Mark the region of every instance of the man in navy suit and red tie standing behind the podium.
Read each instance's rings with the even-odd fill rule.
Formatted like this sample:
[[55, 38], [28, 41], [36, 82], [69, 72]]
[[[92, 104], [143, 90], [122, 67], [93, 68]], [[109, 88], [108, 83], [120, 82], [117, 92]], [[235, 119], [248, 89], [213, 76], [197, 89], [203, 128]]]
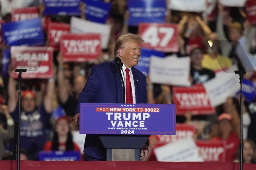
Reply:
[[[145, 75], [134, 68], [140, 58], [140, 42], [143, 42], [140, 37], [122, 35], [115, 44], [114, 55], [123, 62], [125, 103], [147, 103]], [[130, 90], [127, 91], [128, 89]], [[122, 80], [115, 61], [101, 63], [92, 68], [78, 98], [77, 114], [73, 117], [76, 126], [79, 126], [80, 103], [123, 103]], [[106, 149], [98, 135], [86, 135], [84, 153], [90, 156], [90, 160], [106, 159]], [[145, 144], [140, 152], [140, 160], [144, 161], [147, 156], [148, 144]]]

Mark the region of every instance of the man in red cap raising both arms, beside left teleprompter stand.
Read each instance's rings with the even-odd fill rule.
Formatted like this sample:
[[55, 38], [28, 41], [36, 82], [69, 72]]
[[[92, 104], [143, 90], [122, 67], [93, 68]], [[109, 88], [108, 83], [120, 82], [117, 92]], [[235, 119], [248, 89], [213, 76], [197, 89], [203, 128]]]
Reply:
[[[38, 159], [38, 151], [46, 142], [45, 128], [52, 113], [54, 79], [49, 79], [43, 104], [36, 107], [36, 93], [25, 90], [21, 93], [20, 109], [20, 148], [28, 152], [29, 160]], [[10, 76], [8, 84], [8, 109], [13, 120], [18, 122], [19, 106], [15, 80]]]

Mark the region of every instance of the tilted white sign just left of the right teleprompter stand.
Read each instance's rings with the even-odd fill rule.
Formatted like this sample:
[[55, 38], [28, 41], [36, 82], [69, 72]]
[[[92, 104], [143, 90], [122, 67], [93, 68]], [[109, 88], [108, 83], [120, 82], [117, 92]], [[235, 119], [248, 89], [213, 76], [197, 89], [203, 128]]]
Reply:
[[224, 103], [229, 96], [234, 96], [240, 88], [239, 75], [225, 73], [203, 84], [212, 107]]

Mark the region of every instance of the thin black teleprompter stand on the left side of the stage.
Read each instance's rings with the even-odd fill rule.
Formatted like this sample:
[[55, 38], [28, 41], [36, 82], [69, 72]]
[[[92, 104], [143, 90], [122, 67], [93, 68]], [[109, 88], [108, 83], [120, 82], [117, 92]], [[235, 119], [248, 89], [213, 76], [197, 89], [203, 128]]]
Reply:
[[18, 72], [18, 78], [19, 78], [19, 121], [18, 121], [18, 141], [17, 141], [17, 170], [20, 170], [20, 97], [21, 97], [21, 92], [20, 92], [20, 82], [21, 82], [21, 73], [22, 72], [27, 72], [27, 69], [16, 69], [15, 72]]

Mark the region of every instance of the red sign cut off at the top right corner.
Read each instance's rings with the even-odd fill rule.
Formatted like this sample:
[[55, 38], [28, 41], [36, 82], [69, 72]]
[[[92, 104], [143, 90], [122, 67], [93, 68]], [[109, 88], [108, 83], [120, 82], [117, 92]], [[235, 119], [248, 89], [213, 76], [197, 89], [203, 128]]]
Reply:
[[245, 3], [246, 16], [251, 24], [256, 24], [256, 1], [247, 0]]

